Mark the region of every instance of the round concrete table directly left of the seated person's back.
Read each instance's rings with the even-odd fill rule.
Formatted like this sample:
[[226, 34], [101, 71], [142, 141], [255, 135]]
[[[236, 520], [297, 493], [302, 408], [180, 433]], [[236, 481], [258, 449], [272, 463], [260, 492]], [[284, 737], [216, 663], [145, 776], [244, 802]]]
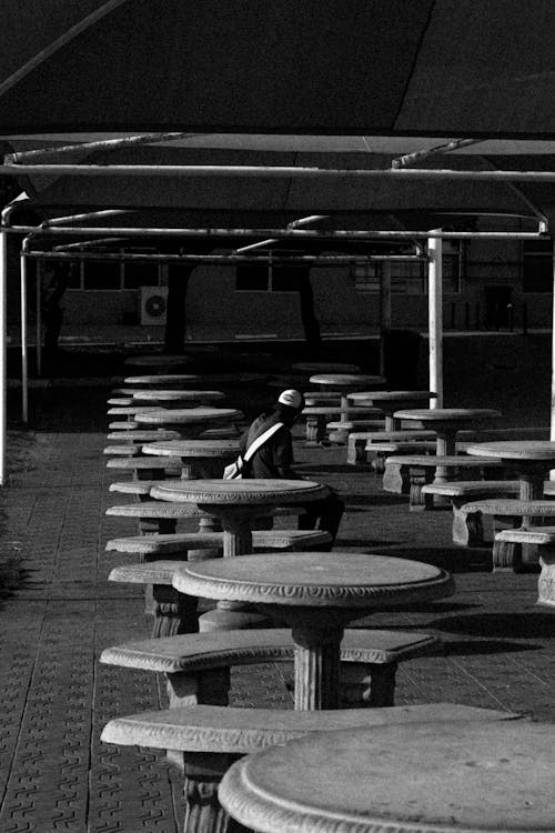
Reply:
[[196, 478], [221, 478], [223, 469], [236, 460], [236, 440], [155, 440], [142, 446], [144, 454], [180, 456], [183, 461], [184, 480]]

